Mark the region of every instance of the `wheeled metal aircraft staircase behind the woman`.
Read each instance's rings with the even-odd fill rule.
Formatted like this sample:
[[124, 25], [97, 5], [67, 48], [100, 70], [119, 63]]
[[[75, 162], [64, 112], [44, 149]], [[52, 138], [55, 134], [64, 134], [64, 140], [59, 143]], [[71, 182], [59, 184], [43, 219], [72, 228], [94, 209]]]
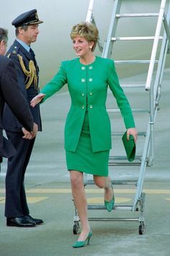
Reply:
[[[122, 88], [129, 90], [133, 88], [134, 90], [143, 90], [148, 98], [148, 108], [145, 106], [143, 108], [132, 108], [134, 115], [135, 114], [147, 114], [148, 115], [148, 125], [146, 130], [139, 131], [138, 136], [143, 137], [144, 144], [141, 155], [135, 156], [135, 161], [129, 163], [125, 155], [110, 155], [109, 157], [109, 166], [140, 166], [138, 173], [138, 179], [119, 179], [113, 180], [112, 184], [114, 185], [134, 185], [135, 186], [135, 197], [132, 205], [115, 205], [114, 210], [130, 210], [131, 212], [138, 211], [138, 218], [89, 218], [89, 221], [139, 221], [139, 234], [143, 234], [145, 229], [144, 223], [144, 204], [145, 204], [145, 193], [143, 193], [143, 182], [146, 172], [146, 166], [151, 166], [154, 158], [154, 124], [156, 120], [156, 114], [158, 111], [159, 99], [161, 96], [161, 84], [163, 80], [164, 67], [166, 61], [166, 55], [170, 53], [170, 29], [169, 29], [169, 20], [170, 20], [170, 3], [169, 0], [161, 0], [160, 8], [158, 13], [121, 13], [121, 7], [123, 0], [113, 0], [113, 9], [112, 17], [109, 25], [109, 31], [107, 35], [107, 40], [105, 40], [104, 47], [102, 43], [98, 42], [99, 49], [102, 51], [103, 58], [112, 59], [112, 52], [116, 43], [120, 41], [143, 41], [147, 40], [153, 41], [153, 46], [151, 49], [151, 58], [150, 59], [125, 59], [125, 60], [115, 60], [115, 66], [117, 65], [131, 65], [134, 64], [146, 64], [148, 65], [148, 72], [146, 76], [146, 82], [143, 83], [128, 83], [121, 84]], [[138, 4], [138, 1], [133, 1], [133, 5]], [[93, 15], [93, 5], [94, 0], [89, 1], [89, 10], [86, 16], [87, 22], [94, 22]], [[132, 4], [131, 4], [132, 5]], [[147, 6], [146, 6], [147, 9]], [[156, 19], [156, 30], [155, 34], [151, 36], [130, 36], [130, 37], [121, 37], [117, 36], [117, 25], [120, 20], [132, 19], [133, 22], [138, 22], [138, 18], [148, 19], [154, 17]], [[127, 30], [130, 28], [127, 28]], [[143, 27], [145, 30], [145, 27]], [[117, 108], [107, 109], [109, 114], [120, 112]], [[125, 131], [122, 132], [113, 132], [112, 137], [121, 136]], [[138, 147], [138, 143], [137, 143]], [[133, 168], [133, 167], [132, 167]], [[135, 167], [136, 168], [136, 167]], [[87, 179], [85, 185], [93, 184], [91, 180]], [[91, 210], [104, 210], [104, 205], [88, 205], [88, 209]], [[113, 210], [113, 212], [114, 212]], [[79, 224], [79, 216], [74, 217], [74, 227], [73, 233], [77, 234], [77, 225]]]

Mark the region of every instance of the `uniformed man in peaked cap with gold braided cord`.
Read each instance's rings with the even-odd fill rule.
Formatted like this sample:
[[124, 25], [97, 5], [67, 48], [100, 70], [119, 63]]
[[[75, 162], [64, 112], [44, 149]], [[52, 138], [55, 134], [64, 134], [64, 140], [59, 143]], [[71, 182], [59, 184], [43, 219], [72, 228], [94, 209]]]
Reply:
[[[30, 45], [37, 40], [38, 25], [40, 23], [42, 21], [39, 20], [36, 9], [24, 12], [13, 20], [12, 25], [16, 28], [17, 39], [14, 40], [13, 45], [6, 54], [14, 61], [19, 87], [29, 104], [31, 99], [38, 93], [39, 69]], [[37, 106], [37, 108], [30, 107], [30, 110], [38, 130], [41, 131], [40, 106]], [[17, 150], [17, 153], [8, 159], [6, 171], [6, 225], [25, 227], [27, 224], [24, 221], [23, 225], [23, 218], [27, 220], [28, 226], [30, 226], [30, 222], [34, 225], [41, 224], [43, 223], [42, 220], [30, 216], [24, 189], [24, 174], [30, 161], [35, 138], [32, 140], [23, 140], [21, 138], [22, 125], [19, 124], [19, 121], [7, 105], [4, 106], [3, 125], [7, 137]]]

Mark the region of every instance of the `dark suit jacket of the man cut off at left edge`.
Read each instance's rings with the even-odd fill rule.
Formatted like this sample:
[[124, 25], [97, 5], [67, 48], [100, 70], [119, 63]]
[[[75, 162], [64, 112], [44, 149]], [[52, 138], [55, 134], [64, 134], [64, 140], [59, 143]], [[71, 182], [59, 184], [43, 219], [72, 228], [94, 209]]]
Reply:
[[33, 118], [27, 101], [17, 84], [17, 72], [11, 59], [0, 56], [0, 157], [9, 157], [14, 153], [9, 142], [2, 135], [2, 111], [7, 103], [17, 119], [28, 131], [33, 129]]

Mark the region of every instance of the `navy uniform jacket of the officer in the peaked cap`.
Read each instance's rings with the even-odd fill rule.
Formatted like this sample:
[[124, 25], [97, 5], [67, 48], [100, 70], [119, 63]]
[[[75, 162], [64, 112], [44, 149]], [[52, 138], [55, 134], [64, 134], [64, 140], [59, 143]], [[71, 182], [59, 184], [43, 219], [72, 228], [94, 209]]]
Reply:
[[[24, 66], [27, 70], [29, 70], [30, 60], [34, 61], [37, 70], [37, 81], [39, 69], [37, 67], [35, 57], [32, 56], [28, 51], [26, 51], [17, 40], [14, 40], [14, 43], [11, 46], [11, 48], [9, 48], [9, 51], [7, 52], [6, 56], [9, 56], [9, 58], [14, 61], [15, 68], [17, 69], [17, 80], [19, 87], [21, 88], [24, 98], [27, 99], [27, 102], [30, 106], [30, 101], [32, 100], [32, 98], [35, 97], [35, 95], [37, 95], [38, 92], [37, 89], [35, 89], [34, 82], [32, 82], [30, 88], [26, 90], [25, 84], [27, 83], [27, 76], [24, 74], [22, 70], [21, 64], [19, 63], [19, 57], [17, 56], [17, 54], [22, 56]], [[38, 125], [38, 129], [41, 130], [40, 106], [37, 105], [35, 106], [35, 108], [30, 107], [30, 111], [32, 113], [35, 123]], [[3, 126], [4, 129], [10, 132], [20, 132], [22, 127], [22, 124], [19, 123], [16, 116], [14, 116], [14, 114], [12, 113], [11, 109], [7, 104], [5, 104], [4, 106]]]

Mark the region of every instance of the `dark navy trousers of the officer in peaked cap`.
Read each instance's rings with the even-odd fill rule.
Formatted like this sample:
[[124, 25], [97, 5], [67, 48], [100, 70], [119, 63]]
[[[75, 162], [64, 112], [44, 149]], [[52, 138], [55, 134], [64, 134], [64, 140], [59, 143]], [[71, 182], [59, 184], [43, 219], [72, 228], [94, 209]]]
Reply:
[[35, 138], [24, 140], [21, 132], [6, 132], [6, 135], [16, 148], [17, 154], [8, 160], [5, 216], [15, 218], [29, 214], [24, 189], [24, 174], [30, 161]]

